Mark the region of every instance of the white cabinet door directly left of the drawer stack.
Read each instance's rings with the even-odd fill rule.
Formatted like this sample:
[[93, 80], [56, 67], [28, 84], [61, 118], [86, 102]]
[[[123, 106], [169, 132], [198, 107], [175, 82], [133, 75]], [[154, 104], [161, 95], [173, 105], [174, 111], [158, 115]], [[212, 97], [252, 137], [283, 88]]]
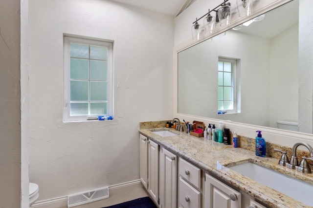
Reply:
[[177, 208], [177, 156], [162, 148], [159, 164], [160, 208]]

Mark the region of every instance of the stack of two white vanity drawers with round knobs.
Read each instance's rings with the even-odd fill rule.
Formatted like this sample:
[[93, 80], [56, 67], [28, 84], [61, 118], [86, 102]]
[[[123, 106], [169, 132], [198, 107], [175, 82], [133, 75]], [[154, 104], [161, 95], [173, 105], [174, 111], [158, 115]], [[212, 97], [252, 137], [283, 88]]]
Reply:
[[201, 169], [179, 158], [179, 208], [201, 208]]

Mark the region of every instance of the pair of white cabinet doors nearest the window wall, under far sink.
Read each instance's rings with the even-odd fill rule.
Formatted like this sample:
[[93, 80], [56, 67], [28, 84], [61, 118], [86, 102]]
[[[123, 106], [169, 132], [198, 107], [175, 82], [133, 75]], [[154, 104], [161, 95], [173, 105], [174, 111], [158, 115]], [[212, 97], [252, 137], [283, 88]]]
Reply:
[[151, 198], [158, 202], [159, 146], [140, 134], [140, 181]]

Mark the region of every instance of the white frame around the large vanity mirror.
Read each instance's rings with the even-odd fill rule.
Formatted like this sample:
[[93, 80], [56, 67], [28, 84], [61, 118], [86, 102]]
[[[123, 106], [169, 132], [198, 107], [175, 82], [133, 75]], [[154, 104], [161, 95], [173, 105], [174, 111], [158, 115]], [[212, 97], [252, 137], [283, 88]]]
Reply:
[[[213, 34], [206, 35], [205, 37], [201, 38], [200, 40], [193, 40], [192, 38], [189, 38], [185, 42], [179, 44], [178, 46], [174, 47], [173, 50], [173, 117], [178, 117], [181, 120], [187, 119], [187, 120], [199, 120], [203, 121], [205, 123], [215, 123], [218, 124], [219, 119], [215, 118], [207, 118], [207, 117], [201, 117], [201, 116], [195, 116], [195, 115], [188, 115], [183, 113], [178, 113], [178, 54], [179, 52], [186, 50], [194, 45], [197, 45], [201, 43], [202, 41], [205, 41], [209, 38], [213, 38], [214, 36], [217, 36], [221, 33], [224, 33], [225, 31], [242, 24], [246, 22], [249, 19], [253, 19], [255, 17], [258, 17], [264, 13], [267, 13], [268, 11], [271, 11], [279, 6], [282, 6], [292, 0], [257, 0], [255, 2], [255, 12], [253, 12], [250, 16], [239, 18], [237, 13], [232, 15], [232, 23], [226, 27], [215, 27], [215, 31]], [[275, 135], [283, 135], [288, 137], [295, 137], [299, 139], [306, 139], [306, 140], [313, 140], [313, 134], [310, 133], [302, 133], [302, 132], [291, 132], [287, 130], [280, 130], [270, 127], [264, 127], [264, 126], [257, 126], [257, 125], [251, 125], [251, 124], [245, 124], [245, 123], [239, 123], [234, 121], [225, 121], [224, 124], [230, 128], [235, 128], [242, 130], [243, 132], [246, 132], [248, 135], [245, 134], [245, 136], [249, 136], [254, 138], [254, 134], [251, 136], [251, 130], [255, 131], [256, 129], [261, 129], [263, 132], [268, 132]], [[250, 134], [250, 135], [249, 135]]]

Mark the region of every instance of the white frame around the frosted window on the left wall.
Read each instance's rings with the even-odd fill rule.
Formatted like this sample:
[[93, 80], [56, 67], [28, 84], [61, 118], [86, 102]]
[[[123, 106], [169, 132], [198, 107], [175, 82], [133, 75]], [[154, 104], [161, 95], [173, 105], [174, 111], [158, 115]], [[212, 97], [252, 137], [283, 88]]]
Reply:
[[[70, 115], [70, 43], [108, 47], [108, 112], [99, 115]], [[89, 80], [90, 81], [90, 80]], [[90, 100], [89, 100], [90, 102]], [[64, 36], [64, 106], [63, 121], [86, 121], [100, 115], [113, 116], [113, 43], [110, 40], [91, 40]]]

